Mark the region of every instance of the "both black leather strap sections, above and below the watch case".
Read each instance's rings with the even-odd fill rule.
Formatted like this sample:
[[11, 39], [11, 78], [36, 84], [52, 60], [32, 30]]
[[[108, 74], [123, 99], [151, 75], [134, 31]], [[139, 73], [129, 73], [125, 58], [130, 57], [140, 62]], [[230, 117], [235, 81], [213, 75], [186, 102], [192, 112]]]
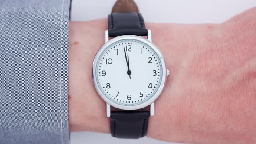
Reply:
[[[108, 15], [108, 36], [147, 36], [143, 17], [138, 12], [111, 13]], [[112, 111], [111, 135], [118, 138], [144, 137], [148, 128], [149, 111]]]

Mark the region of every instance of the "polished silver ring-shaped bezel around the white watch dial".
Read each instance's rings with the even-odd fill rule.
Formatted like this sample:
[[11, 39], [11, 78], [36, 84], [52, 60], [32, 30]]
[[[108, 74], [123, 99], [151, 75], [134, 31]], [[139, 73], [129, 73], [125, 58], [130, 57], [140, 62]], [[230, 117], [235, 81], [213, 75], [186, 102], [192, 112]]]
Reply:
[[[162, 65], [162, 72], [163, 72], [163, 76], [162, 76], [162, 80], [161, 83], [159, 85], [158, 90], [155, 92], [154, 95], [152, 95], [151, 98], [149, 98], [147, 101], [138, 104], [138, 105], [121, 105], [118, 103], [115, 103], [114, 101], [111, 101], [110, 99], [108, 99], [104, 93], [100, 90], [99, 85], [97, 83], [96, 80], [96, 65], [98, 62], [98, 59], [100, 58], [102, 52], [104, 52], [104, 50], [106, 48], [108, 48], [108, 46], [112, 45], [113, 43], [116, 43], [120, 40], [125, 40], [125, 39], [134, 39], [134, 40], [138, 40], [141, 41], [142, 43], [147, 44], [148, 46], [150, 46], [158, 55], [161, 65]], [[122, 109], [122, 110], [136, 110], [136, 109], [141, 109], [144, 107], [147, 107], [148, 105], [150, 105], [151, 103], [153, 103], [158, 97], [159, 95], [161, 95], [161, 92], [164, 89], [164, 85], [166, 82], [166, 77], [167, 77], [167, 72], [166, 72], [166, 67], [165, 67], [165, 62], [164, 62], [164, 56], [162, 55], [161, 51], [158, 49], [157, 46], [154, 45], [154, 43], [152, 43], [151, 41], [149, 41], [148, 39], [145, 39], [141, 36], [135, 36], [135, 35], [122, 35], [122, 36], [117, 36], [109, 41], [107, 41], [96, 53], [95, 58], [93, 60], [93, 64], [92, 64], [92, 80], [93, 80], [93, 84], [95, 86], [96, 91], [98, 92], [98, 95], [100, 95], [100, 97], [108, 104], [111, 105], [115, 108], [118, 109]]]

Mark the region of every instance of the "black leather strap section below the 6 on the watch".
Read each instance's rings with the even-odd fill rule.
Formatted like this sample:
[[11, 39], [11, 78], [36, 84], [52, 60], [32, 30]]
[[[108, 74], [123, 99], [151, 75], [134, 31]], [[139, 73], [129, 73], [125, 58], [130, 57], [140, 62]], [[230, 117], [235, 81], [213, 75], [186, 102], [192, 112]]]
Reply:
[[110, 124], [112, 137], [144, 137], [148, 128], [149, 116], [149, 111], [112, 111]]

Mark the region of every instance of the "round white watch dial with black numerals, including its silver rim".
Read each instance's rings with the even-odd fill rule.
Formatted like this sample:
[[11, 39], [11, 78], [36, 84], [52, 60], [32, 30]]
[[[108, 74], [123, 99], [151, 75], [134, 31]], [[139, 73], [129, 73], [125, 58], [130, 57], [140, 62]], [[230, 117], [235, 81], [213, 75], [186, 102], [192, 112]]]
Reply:
[[138, 36], [119, 36], [108, 41], [98, 51], [93, 70], [99, 95], [121, 109], [146, 106], [146, 101], [158, 97], [165, 81], [161, 52]]

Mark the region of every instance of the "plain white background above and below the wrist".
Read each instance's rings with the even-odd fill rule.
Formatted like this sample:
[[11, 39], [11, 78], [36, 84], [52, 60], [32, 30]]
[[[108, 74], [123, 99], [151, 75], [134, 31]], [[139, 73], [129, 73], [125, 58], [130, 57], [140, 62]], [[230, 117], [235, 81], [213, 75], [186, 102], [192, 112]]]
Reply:
[[[106, 18], [115, 1], [72, 0], [71, 20], [88, 21]], [[256, 7], [256, 0], [135, 0], [135, 2], [145, 21], [156, 23], [222, 23], [237, 13]], [[92, 132], [71, 132], [70, 135], [71, 144], [171, 144], [148, 137], [123, 140], [112, 138], [110, 134]]]

